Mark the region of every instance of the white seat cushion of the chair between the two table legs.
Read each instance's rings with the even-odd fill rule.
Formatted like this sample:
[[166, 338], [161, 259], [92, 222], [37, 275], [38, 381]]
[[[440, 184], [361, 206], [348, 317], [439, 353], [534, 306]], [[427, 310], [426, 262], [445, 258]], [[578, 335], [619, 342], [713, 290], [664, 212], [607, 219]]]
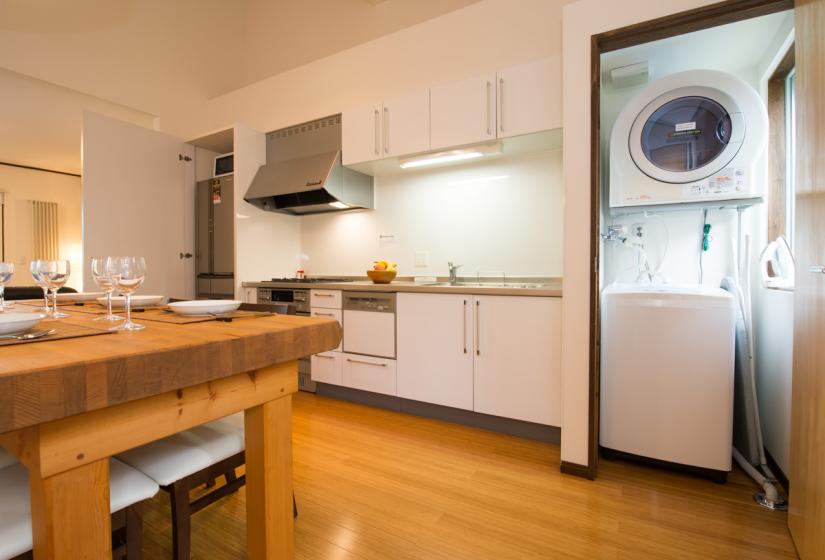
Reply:
[[201, 471], [244, 450], [243, 413], [130, 449], [118, 459], [161, 486]]

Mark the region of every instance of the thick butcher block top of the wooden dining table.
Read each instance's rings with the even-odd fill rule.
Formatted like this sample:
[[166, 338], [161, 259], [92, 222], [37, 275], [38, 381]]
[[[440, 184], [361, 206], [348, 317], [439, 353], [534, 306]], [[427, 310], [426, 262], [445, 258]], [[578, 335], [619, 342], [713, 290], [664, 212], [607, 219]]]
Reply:
[[[111, 324], [61, 311], [71, 315], [62, 322]], [[341, 337], [334, 319], [293, 315], [186, 325], [135, 321], [146, 328], [0, 348], [0, 434], [295, 360], [335, 348]]]

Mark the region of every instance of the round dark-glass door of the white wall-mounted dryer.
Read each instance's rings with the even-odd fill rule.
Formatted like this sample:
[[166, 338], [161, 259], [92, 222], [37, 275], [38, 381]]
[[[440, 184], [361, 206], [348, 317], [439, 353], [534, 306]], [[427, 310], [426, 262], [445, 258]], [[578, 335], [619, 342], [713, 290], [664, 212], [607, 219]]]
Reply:
[[630, 155], [663, 183], [705, 179], [733, 161], [745, 137], [736, 102], [708, 87], [679, 88], [650, 102], [633, 122]]

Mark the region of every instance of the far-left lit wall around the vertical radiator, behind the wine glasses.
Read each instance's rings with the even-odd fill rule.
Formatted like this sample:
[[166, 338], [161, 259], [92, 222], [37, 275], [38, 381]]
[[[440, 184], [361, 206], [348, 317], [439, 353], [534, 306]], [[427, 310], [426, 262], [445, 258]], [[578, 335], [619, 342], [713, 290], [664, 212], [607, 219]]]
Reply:
[[59, 258], [69, 259], [72, 274], [67, 286], [83, 284], [80, 177], [0, 165], [0, 192], [5, 193], [6, 261], [16, 271], [10, 286], [34, 285], [29, 274], [33, 237], [31, 200], [57, 203]]

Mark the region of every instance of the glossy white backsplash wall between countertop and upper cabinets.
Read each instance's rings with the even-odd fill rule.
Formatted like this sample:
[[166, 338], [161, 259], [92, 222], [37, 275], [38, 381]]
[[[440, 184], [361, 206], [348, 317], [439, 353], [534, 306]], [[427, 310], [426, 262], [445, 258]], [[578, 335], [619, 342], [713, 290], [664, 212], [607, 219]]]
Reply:
[[561, 160], [553, 150], [376, 177], [375, 210], [301, 219], [303, 268], [363, 276], [387, 259], [402, 276], [446, 276], [453, 261], [462, 276], [561, 276]]

